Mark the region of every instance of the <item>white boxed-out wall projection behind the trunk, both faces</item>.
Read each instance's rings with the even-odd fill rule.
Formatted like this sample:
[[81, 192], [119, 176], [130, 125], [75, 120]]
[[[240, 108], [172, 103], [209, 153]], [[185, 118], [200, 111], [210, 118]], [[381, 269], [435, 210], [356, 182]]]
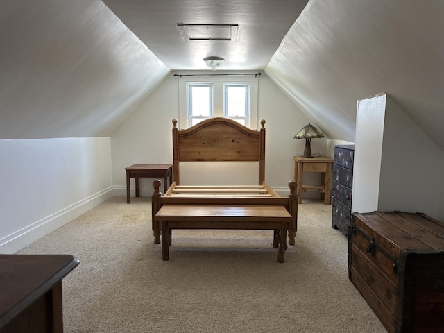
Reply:
[[391, 96], [359, 101], [353, 212], [422, 212], [444, 221], [443, 151]]

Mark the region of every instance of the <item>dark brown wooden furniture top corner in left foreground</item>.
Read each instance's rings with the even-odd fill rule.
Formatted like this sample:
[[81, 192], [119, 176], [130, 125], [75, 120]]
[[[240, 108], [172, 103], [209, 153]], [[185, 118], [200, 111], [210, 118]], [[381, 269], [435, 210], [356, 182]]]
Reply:
[[62, 333], [62, 278], [72, 255], [0, 255], [0, 333]]

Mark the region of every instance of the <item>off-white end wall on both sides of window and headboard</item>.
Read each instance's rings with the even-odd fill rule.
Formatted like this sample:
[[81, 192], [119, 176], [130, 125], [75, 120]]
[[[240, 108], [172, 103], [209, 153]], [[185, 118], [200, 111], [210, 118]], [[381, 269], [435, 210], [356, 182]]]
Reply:
[[[126, 195], [125, 167], [131, 164], [172, 164], [173, 118], [179, 119], [178, 78], [169, 76], [153, 94], [112, 134], [112, 181]], [[293, 180], [294, 155], [304, 151], [305, 141], [294, 135], [311, 121], [266, 76], [259, 77], [257, 121], [266, 120], [266, 182], [275, 190], [288, 192]], [[178, 124], [182, 128], [181, 124]], [[260, 125], [257, 126], [260, 128]], [[321, 131], [322, 129], [319, 128]], [[327, 139], [311, 142], [312, 151], [327, 150]], [[152, 180], [140, 180], [142, 196], [151, 196]], [[134, 180], [131, 180], [134, 196]]]

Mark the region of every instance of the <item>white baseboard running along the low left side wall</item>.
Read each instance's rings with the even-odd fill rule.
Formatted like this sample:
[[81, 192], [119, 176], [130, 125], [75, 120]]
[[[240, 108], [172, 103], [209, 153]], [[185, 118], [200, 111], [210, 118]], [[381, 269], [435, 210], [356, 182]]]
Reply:
[[33, 244], [37, 239], [53, 232], [62, 225], [76, 219], [81, 214], [86, 213], [116, 195], [114, 187], [108, 187], [108, 189], [103, 189], [103, 191], [99, 191], [92, 196], [80, 200], [77, 203], [74, 203], [74, 205], [66, 207], [50, 216], [46, 216], [46, 218], [41, 219], [40, 221], [36, 221], [35, 223], [28, 225], [28, 227], [0, 239], [0, 253], [17, 253], [17, 251]]

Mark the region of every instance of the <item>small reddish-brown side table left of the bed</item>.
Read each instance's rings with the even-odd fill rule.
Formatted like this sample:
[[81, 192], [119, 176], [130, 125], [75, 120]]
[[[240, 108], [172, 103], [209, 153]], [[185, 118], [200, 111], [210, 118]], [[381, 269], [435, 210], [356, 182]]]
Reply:
[[[130, 178], [135, 178], [136, 181], [136, 197], [139, 196], [139, 178], [162, 178], [165, 192], [173, 182], [173, 164], [133, 164], [125, 170], [126, 203], [131, 203]], [[169, 179], [169, 185], [167, 179]]]

